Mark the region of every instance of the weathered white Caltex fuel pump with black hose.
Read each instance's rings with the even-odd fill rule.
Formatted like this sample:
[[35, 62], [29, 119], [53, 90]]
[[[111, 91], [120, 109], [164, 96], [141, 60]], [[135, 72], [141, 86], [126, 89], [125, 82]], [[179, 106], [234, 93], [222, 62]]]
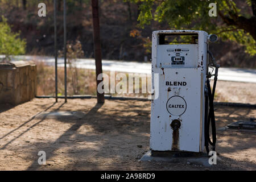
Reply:
[[[216, 40], [216, 35], [205, 31], [152, 33], [152, 77], [159, 74], [158, 80], [152, 79], [152, 89], [155, 92], [158, 89], [158, 97], [151, 103], [152, 152], [202, 152], [205, 147], [209, 153], [208, 144], [215, 150], [213, 97], [219, 65], [208, 50], [208, 43]], [[213, 75], [208, 70], [212, 67], [215, 67]], [[211, 90], [209, 78], [212, 76]]]

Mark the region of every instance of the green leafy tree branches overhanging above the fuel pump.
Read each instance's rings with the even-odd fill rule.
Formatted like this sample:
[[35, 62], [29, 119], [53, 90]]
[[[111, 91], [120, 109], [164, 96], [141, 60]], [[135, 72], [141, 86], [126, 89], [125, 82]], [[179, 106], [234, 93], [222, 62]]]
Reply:
[[[150, 24], [151, 20], [167, 22], [171, 30], [204, 30], [209, 34], [217, 34], [224, 40], [233, 40], [246, 47], [246, 52], [255, 55], [255, 40], [253, 37], [235, 26], [220, 24], [220, 17], [210, 17], [209, 3], [216, 3], [217, 14], [221, 11], [224, 15], [236, 14], [250, 18], [249, 14], [241, 14], [236, 3], [229, 0], [215, 1], [187, 1], [187, 0], [130, 0], [133, 3], [141, 3], [138, 16], [139, 26], [144, 28], [145, 24]], [[246, 5], [250, 6], [251, 1], [247, 0]], [[230, 17], [230, 16], [229, 16]], [[232, 18], [232, 17], [230, 17]], [[218, 19], [218, 21], [217, 21]]]

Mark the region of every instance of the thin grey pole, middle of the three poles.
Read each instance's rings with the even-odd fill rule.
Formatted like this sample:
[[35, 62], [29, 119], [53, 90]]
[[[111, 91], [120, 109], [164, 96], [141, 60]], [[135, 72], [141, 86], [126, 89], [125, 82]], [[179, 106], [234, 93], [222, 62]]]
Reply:
[[64, 74], [65, 74], [65, 102], [67, 102], [67, 26], [66, 26], [66, 0], [63, 0], [64, 13]]

